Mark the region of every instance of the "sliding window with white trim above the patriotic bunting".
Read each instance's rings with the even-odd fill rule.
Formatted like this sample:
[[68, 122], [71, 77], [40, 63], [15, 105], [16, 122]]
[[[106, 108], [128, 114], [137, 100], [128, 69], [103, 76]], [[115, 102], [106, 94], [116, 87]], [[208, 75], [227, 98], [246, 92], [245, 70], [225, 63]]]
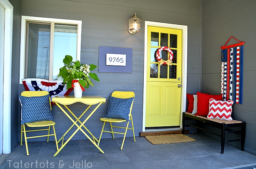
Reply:
[[65, 55], [80, 60], [82, 21], [22, 16], [20, 84], [24, 78], [58, 79]]

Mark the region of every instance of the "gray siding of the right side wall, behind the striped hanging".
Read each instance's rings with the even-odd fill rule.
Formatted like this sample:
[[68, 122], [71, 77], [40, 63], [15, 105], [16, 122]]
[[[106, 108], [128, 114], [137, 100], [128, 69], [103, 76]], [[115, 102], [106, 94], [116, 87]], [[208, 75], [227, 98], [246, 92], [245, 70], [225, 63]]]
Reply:
[[[254, 0], [202, 1], [202, 92], [221, 93], [221, 49], [230, 36], [244, 45], [243, 104], [234, 104], [232, 118], [246, 125], [245, 150], [256, 154], [256, 2]], [[229, 44], [236, 44], [231, 39]], [[237, 145], [234, 143], [234, 145]]]

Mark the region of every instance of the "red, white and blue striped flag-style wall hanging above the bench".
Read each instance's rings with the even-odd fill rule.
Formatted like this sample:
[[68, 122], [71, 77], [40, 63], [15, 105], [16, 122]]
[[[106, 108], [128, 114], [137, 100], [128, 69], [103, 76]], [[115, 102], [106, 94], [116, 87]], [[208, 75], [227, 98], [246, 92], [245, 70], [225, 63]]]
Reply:
[[[237, 44], [227, 45], [234, 38]], [[230, 36], [224, 46], [221, 46], [221, 94], [223, 100], [234, 100], [242, 104], [243, 97], [243, 44], [237, 38]]]

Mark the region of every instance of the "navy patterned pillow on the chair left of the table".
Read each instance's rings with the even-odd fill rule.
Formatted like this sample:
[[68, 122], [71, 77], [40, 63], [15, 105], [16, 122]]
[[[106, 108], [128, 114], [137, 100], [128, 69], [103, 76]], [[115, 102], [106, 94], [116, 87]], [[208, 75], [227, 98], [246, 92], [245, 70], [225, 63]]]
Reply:
[[50, 108], [50, 94], [45, 96], [19, 96], [21, 104], [21, 124], [54, 121]]

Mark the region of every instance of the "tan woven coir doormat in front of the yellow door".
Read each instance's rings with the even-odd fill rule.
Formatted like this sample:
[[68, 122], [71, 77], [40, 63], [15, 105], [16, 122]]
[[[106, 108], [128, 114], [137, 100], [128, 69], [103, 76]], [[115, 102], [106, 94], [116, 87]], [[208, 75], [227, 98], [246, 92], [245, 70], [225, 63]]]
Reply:
[[170, 144], [196, 141], [195, 139], [184, 134], [162, 134], [156, 136], [145, 136], [145, 138], [152, 144]]

